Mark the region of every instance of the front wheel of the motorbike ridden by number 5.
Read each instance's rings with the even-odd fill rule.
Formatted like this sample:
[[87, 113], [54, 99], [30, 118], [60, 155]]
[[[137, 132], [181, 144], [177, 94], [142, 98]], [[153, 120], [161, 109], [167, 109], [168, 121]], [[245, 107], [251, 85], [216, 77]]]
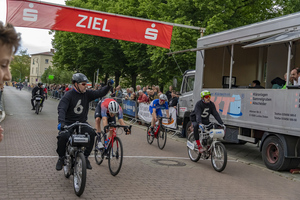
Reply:
[[211, 150], [211, 164], [217, 172], [221, 172], [227, 165], [227, 150], [221, 142], [215, 143]]

